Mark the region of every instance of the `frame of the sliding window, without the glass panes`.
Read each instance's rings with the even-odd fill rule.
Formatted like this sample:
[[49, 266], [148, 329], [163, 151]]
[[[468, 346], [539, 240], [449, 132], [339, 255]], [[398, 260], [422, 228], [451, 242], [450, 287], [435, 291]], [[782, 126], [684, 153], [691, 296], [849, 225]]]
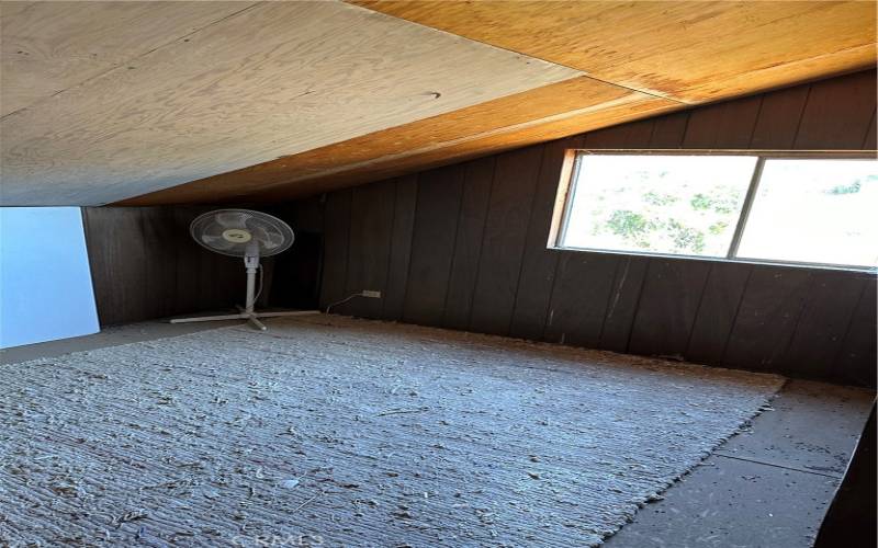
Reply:
[[[574, 195], [576, 193], [576, 179], [578, 176], [579, 167], [582, 165], [583, 158], [588, 156], [751, 156], [756, 157], [756, 164], [753, 169], [753, 176], [751, 178], [747, 186], [747, 192], [744, 196], [744, 203], [741, 206], [741, 214], [738, 218], [732, 241], [729, 246], [729, 251], [724, 258], [720, 256], [702, 256], [702, 255], [687, 255], [682, 253], [658, 253], [654, 251], [631, 251], [631, 250], [612, 250], [603, 248], [581, 248], [575, 246], [563, 246], [564, 232], [571, 217]], [[741, 149], [567, 149], [564, 156], [564, 162], [561, 169], [561, 181], [558, 187], [555, 197], [554, 212], [552, 214], [552, 225], [549, 230], [548, 248], [559, 251], [587, 251], [590, 253], [609, 253], [620, 255], [645, 255], [657, 256], [664, 259], [688, 259], [698, 261], [713, 261], [713, 262], [734, 262], [734, 263], [748, 263], [748, 264], [775, 264], [786, 266], [800, 266], [809, 269], [826, 269], [826, 270], [843, 270], [843, 271], [857, 271], [875, 273], [878, 267], [863, 266], [863, 265], [847, 265], [834, 263], [817, 263], [817, 262], [802, 262], [802, 261], [787, 261], [787, 260], [762, 260], [739, 258], [738, 250], [741, 246], [741, 239], [744, 236], [744, 228], [746, 227], [750, 212], [753, 208], [753, 203], [756, 198], [756, 193], [759, 189], [762, 181], [763, 168], [766, 160], [875, 160], [876, 152], [869, 150], [741, 150]]]

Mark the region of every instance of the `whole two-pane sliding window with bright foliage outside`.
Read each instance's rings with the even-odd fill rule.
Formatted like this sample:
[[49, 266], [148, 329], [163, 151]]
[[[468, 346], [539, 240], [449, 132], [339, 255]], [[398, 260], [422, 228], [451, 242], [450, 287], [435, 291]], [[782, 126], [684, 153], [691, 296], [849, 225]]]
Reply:
[[878, 162], [577, 151], [554, 247], [875, 267]]

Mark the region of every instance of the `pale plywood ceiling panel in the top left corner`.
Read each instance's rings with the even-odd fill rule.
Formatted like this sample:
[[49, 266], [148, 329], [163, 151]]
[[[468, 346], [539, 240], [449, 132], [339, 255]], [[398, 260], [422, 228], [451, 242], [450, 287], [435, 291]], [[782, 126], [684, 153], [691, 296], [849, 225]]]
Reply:
[[0, 116], [25, 109], [251, 5], [0, 2]]

